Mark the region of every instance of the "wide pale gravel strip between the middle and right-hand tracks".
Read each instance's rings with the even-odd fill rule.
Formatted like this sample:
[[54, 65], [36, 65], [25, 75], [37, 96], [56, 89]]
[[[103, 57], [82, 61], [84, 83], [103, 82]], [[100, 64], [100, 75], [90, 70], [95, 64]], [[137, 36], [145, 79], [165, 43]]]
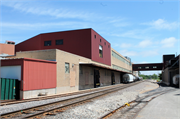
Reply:
[[158, 88], [159, 86], [151, 82], [131, 86], [110, 95], [92, 100], [89, 103], [73, 107], [56, 116], [46, 117], [47, 119], [97, 119], [127, 102], [135, 100], [142, 92]]

